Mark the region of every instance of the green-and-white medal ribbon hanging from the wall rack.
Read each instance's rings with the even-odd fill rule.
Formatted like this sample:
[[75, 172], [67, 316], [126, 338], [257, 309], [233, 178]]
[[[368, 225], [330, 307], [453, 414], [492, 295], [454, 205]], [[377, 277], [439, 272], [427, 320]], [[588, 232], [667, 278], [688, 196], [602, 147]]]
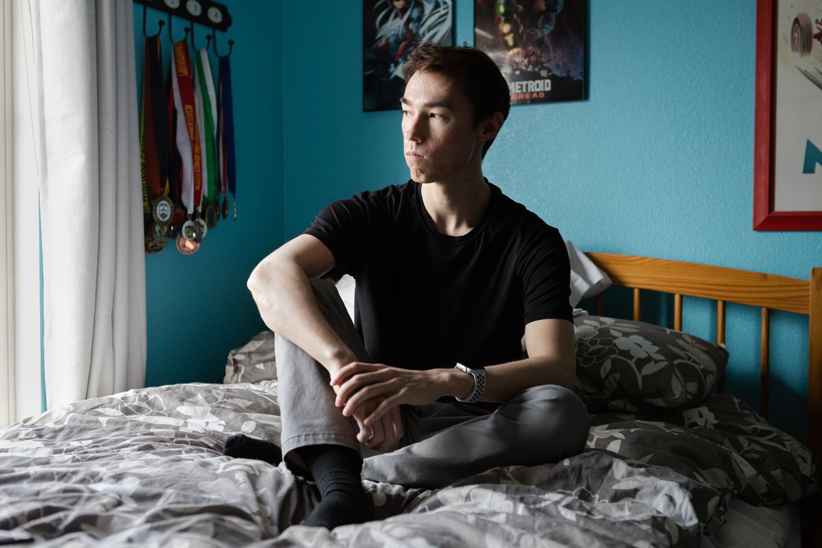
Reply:
[[203, 196], [210, 201], [217, 198], [217, 151], [215, 150], [215, 96], [214, 81], [208, 50], [202, 48], [194, 55], [196, 80], [194, 99], [197, 105], [197, 122], [200, 124], [202, 145]]

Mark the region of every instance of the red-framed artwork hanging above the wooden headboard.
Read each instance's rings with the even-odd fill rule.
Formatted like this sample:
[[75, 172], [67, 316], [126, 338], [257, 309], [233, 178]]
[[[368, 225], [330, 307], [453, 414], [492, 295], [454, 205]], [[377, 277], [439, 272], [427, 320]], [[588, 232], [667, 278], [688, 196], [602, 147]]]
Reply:
[[822, 230], [822, 0], [757, 0], [754, 229]]

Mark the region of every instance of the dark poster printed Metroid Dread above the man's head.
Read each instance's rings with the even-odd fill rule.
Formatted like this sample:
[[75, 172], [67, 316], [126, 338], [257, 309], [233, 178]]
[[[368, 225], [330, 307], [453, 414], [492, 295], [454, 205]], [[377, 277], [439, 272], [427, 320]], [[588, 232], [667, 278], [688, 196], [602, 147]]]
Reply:
[[586, 0], [475, 0], [474, 44], [500, 67], [511, 104], [585, 99]]

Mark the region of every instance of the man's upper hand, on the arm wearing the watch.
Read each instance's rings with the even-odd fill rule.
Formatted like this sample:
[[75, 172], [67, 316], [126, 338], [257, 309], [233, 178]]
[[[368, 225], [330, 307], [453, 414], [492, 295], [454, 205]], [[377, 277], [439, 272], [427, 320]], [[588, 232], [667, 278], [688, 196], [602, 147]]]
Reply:
[[[390, 416], [386, 413], [399, 410], [399, 405], [424, 405], [446, 395], [436, 375], [436, 370], [413, 371], [354, 361], [331, 375], [330, 384], [337, 393], [336, 406], [344, 406], [345, 417], [364, 412], [365, 426], [376, 426], [384, 424]], [[379, 403], [374, 405], [375, 401]]]

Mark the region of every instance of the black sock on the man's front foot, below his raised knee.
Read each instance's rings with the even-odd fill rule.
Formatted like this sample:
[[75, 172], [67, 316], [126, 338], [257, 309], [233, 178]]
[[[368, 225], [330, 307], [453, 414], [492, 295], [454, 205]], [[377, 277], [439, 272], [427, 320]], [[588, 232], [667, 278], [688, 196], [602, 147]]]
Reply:
[[320, 488], [321, 501], [302, 525], [333, 529], [374, 518], [363, 489], [363, 458], [342, 445], [311, 445], [298, 449]]

